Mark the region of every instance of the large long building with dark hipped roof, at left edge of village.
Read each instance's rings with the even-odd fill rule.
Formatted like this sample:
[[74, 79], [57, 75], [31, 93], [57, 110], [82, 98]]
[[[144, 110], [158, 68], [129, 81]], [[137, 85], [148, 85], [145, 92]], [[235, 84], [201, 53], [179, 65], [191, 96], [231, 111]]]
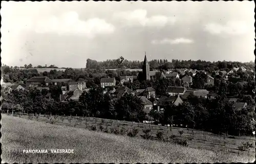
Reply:
[[48, 77], [32, 77], [29, 80], [26, 81], [26, 86], [29, 87], [39, 87], [43, 85], [49, 85], [52, 80], [49, 79]]

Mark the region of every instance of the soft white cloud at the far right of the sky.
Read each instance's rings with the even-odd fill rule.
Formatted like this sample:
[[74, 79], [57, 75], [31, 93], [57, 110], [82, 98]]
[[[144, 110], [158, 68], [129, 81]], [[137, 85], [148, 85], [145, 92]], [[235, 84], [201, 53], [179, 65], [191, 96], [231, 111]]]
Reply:
[[225, 25], [210, 23], [205, 25], [204, 30], [211, 34], [240, 35], [249, 29], [244, 21], [228, 21]]

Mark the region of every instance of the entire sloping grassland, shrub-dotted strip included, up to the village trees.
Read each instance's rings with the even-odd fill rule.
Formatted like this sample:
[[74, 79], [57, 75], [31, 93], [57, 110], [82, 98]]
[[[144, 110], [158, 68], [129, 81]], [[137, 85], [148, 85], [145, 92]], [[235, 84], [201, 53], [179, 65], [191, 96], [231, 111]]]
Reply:
[[[70, 116], [11, 116], [2, 114], [2, 162], [104, 162], [104, 163], [185, 163], [248, 162], [255, 159], [254, 148], [238, 154], [238, 146], [254, 137], [217, 136], [182, 128], [162, 127], [125, 121]], [[103, 121], [102, 121], [103, 120]], [[96, 131], [92, 131], [95, 126]], [[100, 128], [102, 127], [102, 128]], [[139, 129], [136, 137], [111, 134], [111, 129]], [[143, 129], [152, 129], [155, 139], [142, 139]], [[90, 130], [91, 129], [91, 130]], [[108, 130], [108, 133], [104, 132]], [[184, 133], [188, 146], [156, 140], [156, 132], [164, 136]], [[254, 146], [254, 145], [253, 145]], [[24, 149], [74, 149], [74, 154], [23, 154]], [[208, 149], [208, 150], [207, 150]]]

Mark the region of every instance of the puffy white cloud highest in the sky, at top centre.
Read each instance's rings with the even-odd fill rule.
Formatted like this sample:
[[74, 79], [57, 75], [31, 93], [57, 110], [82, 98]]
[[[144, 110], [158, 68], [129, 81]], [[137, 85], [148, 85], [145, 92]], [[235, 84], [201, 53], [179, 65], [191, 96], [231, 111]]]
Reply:
[[129, 26], [147, 26], [147, 27], [164, 27], [168, 23], [173, 24], [176, 21], [175, 17], [167, 17], [164, 15], [147, 16], [147, 11], [137, 9], [134, 11], [123, 11], [115, 13], [114, 19], [120, 20]]

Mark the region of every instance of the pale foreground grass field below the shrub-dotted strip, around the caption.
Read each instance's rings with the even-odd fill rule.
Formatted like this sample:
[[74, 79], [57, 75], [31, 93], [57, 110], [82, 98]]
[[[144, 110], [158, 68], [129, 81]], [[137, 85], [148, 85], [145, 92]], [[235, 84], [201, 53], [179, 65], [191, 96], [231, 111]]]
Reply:
[[[254, 159], [246, 154], [217, 153], [156, 140], [89, 131], [82, 126], [95, 122], [97, 124], [97, 119], [94, 121], [90, 118], [92, 122], [88, 120], [87, 123], [84, 119], [76, 127], [69, 127], [61, 126], [70, 124], [68, 120], [60, 119], [55, 124], [61, 125], [51, 125], [44, 123], [44, 117], [38, 119], [42, 122], [37, 122], [2, 114], [2, 162], [213, 163], [248, 162]], [[125, 122], [122, 123], [125, 124]], [[74, 119], [71, 124], [76, 125]], [[114, 123], [112, 124], [114, 126]], [[134, 126], [137, 125], [134, 124]], [[176, 130], [174, 129], [173, 133]], [[183, 135], [186, 137], [185, 135], [188, 134]], [[189, 145], [193, 147], [191, 142]], [[74, 149], [74, 154], [24, 154], [24, 149]]]

